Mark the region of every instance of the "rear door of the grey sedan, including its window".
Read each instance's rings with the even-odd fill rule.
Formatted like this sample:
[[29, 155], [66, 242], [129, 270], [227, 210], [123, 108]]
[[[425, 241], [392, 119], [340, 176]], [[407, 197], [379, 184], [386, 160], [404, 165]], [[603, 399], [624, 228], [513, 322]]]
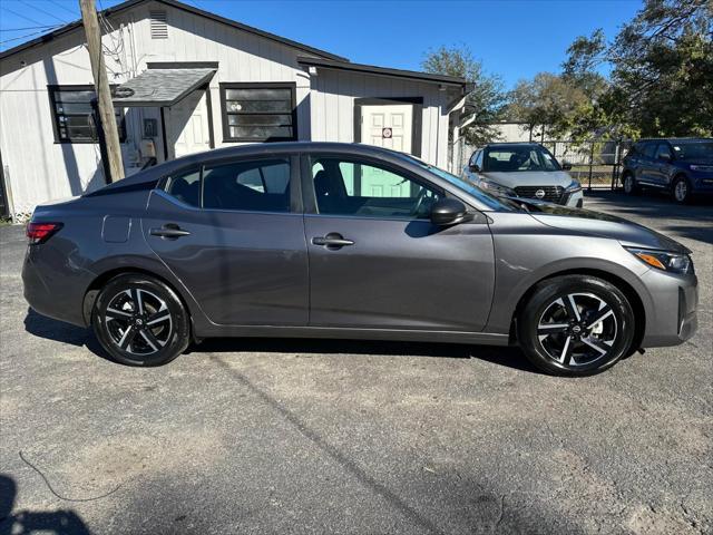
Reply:
[[309, 278], [299, 157], [188, 167], [149, 197], [147, 243], [226, 325], [306, 325]]

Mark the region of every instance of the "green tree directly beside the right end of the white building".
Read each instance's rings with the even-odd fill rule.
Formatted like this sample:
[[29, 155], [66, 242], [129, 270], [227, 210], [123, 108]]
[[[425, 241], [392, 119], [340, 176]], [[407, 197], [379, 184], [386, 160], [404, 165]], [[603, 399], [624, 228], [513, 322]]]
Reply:
[[502, 80], [498, 76], [488, 75], [482, 64], [476, 60], [466, 46], [440, 47], [430, 50], [421, 68], [427, 72], [459, 76], [473, 85], [466, 97], [466, 105], [473, 110], [476, 120], [462, 133], [469, 145], [479, 146], [497, 139], [498, 130], [491, 124], [501, 117], [506, 95]]

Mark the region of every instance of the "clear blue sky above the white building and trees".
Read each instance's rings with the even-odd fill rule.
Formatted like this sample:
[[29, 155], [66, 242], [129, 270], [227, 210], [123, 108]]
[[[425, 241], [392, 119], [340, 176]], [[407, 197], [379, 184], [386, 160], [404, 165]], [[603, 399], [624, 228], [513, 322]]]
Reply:
[[[96, 1], [100, 9], [120, 3]], [[642, 7], [642, 0], [184, 1], [359, 64], [419, 70], [429, 50], [465, 45], [507, 89], [557, 71], [577, 36], [603, 28], [613, 38]], [[79, 17], [78, 0], [0, 0], [0, 49]]]

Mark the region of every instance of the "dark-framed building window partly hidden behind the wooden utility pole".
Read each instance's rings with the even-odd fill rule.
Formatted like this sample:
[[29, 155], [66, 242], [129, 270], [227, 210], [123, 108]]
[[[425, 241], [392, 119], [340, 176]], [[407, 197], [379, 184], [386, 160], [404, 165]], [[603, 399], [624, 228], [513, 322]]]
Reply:
[[[97, 95], [91, 86], [50, 86], [56, 140], [97, 143]], [[115, 109], [119, 140], [126, 140], [124, 111]]]

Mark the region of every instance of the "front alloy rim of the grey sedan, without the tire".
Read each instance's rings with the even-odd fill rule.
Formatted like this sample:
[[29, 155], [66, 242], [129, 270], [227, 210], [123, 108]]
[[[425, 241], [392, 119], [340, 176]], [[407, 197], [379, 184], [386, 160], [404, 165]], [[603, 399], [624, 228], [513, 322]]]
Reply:
[[545, 308], [537, 325], [541, 349], [565, 367], [589, 366], [608, 359], [617, 335], [614, 310], [594, 293], [557, 298]]

